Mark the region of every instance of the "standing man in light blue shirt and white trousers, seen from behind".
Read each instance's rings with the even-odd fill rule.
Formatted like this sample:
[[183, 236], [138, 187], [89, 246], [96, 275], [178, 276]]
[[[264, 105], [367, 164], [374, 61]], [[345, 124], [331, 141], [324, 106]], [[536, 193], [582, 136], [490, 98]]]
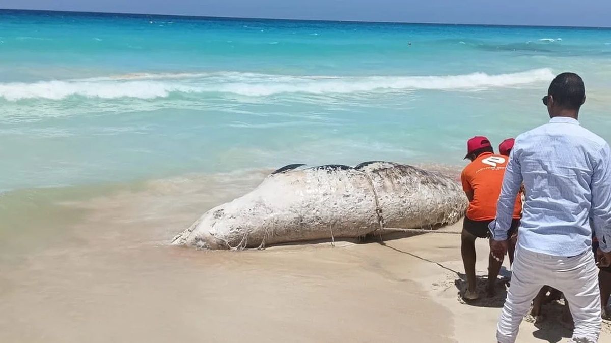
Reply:
[[519, 135], [511, 150], [496, 221], [489, 226], [492, 255], [498, 260], [507, 251], [507, 231], [522, 182], [526, 201], [511, 286], [497, 328], [500, 343], [516, 341], [530, 301], [546, 284], [563, 292], [569, 302], [573, 341], [598, 342], [601, 298], [592, 231], [599, 240], [599, 264], [611, 264], [611, 148], [579, 125], [584, 102], [584, 81], [574, 73], [559, 74], [543, 98], [551, 120]]

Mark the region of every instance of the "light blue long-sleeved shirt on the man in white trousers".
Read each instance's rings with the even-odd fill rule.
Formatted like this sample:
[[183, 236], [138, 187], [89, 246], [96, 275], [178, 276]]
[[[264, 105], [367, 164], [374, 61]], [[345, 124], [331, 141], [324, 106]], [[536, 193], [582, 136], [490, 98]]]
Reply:
[[507, 239], [522, 182], [520, 247], [576, 256], [591, 249], [594, 229], [601, 250], [611, 251], [611, 150], [604, 139], [568, 117], [519, 135], [490, 225], [495, 240]]

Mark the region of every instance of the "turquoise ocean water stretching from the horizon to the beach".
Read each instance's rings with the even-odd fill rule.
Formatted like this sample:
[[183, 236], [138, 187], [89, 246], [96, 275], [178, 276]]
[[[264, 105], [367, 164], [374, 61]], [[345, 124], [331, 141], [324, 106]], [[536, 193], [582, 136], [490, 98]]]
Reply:
[[0, 189], [376, 159], [461, 165], [546, 121], [611, 139], [611, 30], [0, 11]]

